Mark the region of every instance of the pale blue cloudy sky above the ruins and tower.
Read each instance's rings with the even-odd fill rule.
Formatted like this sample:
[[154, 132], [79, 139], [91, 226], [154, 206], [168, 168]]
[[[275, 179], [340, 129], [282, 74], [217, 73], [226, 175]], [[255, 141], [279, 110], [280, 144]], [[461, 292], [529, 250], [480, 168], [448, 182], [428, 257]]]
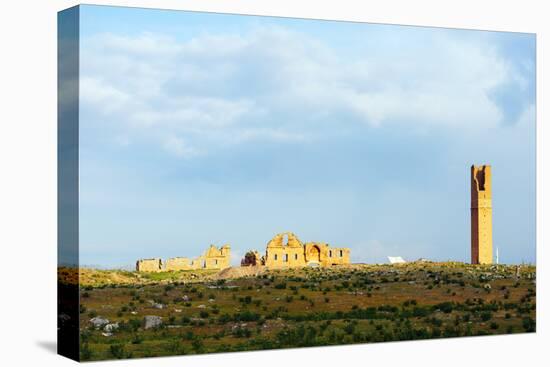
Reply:
[[83, 6], [80, 262], [233, 262], [293, 231], [354, 262], [535, 262], [535, 36]]

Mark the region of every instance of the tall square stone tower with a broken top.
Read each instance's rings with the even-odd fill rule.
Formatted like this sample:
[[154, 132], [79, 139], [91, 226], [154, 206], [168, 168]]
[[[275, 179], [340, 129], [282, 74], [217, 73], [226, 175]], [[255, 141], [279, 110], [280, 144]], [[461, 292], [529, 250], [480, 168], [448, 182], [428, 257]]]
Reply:
[[493, 263], [491, 166], [471, 168], [472, 264]]

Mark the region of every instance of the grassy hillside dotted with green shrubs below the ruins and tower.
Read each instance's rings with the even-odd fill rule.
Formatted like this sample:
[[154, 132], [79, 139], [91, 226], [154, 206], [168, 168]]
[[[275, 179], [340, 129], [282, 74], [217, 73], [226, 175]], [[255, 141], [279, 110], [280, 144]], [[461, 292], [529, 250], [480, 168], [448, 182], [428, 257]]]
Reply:
[[[81, 273], [84, 360], [535, 330], [535, 267], [462, 263]], [[118, 323], [106, 331], [90, 320]], [[145, 329], [145, 316], [162, 324]]]

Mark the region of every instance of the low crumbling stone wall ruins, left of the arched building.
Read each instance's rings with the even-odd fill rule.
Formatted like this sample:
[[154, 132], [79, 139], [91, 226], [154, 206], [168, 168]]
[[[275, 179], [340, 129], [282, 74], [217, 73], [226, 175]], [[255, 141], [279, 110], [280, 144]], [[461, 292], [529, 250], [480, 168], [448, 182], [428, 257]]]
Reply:
[[231, 247], [226, 244], [219, 249], [210, 247], [199, 257], [173, 257], [163, 262], [161, 259], [143, 259], [136, 262], [136, 271], [158, 272], [194, 269], [225, 269], [231, 266]]

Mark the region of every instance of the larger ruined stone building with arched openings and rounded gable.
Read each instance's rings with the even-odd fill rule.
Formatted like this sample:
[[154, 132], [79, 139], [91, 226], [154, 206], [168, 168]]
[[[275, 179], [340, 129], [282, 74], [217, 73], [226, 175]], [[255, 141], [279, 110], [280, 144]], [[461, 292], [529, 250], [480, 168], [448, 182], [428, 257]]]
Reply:
[[[285, 243], [286, 238], [286, 243]], [[265, 265], [272, 268], [332, 266], [350, 263], [350, 249], [327, 243], [302, 243], [292, 232], [280, 233], [268, 242]]]

